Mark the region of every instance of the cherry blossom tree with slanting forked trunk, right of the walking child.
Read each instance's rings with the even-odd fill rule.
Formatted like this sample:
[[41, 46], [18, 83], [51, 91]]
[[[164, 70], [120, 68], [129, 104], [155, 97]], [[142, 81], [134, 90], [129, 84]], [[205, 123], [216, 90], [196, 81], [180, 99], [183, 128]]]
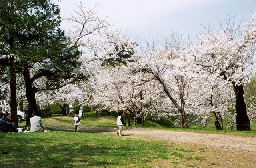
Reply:
[[188, 58], [183, 54], [186, 48], [184, 44], [187, 43], [183, 43], [182, 39], [182, 36], [172, 34], [170, 41], [165, 42], [164, 47], [159, 47], [157, 42], [153, 42], [136, 62], [139, 64], [139, 71], [150, 76], [150, 80], [159, 82], [162, 91], [180, 112], [182, 127], [189, 128], [185, 106], [190, 98], [189, 88], [196, 67], [188, 64]]

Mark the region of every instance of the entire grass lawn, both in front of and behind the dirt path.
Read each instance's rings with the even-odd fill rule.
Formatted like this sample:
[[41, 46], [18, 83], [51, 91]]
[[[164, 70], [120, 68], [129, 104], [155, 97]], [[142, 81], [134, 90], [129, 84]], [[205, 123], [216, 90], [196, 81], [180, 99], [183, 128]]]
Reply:
[[[73, 116], [43, 118], [46, 125], [73, 126]], [[116, 127], [117, 114], [97, 117], [85, 113], [82, 126]], [[170, 128], [170, 123], [146, 121], [144, 128], [254, 136], [254, 131], [216, 131]], [[19, 123], [26, 128], [26, 122]], [[138, 126], [141, 127], [141, 126]], [[198, 144], [152, 140], [141, 135], [119, 137], [112, 132], [74, 133], [51, 130], [44, 133], [0, 132], [0, 167], [253, 167], [252, 151]]]

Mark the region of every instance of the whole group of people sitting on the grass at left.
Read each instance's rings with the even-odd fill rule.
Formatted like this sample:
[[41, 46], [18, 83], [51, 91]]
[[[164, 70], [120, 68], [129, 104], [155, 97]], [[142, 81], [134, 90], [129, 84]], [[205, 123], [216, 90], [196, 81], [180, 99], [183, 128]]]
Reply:
[[[42, 122], [42, 118], [36, 116], [36, 112], [33, 112], [33, 117], [30, 118], [30, 132], [49, 132], [44, 123]], [[0, 112], [0, 131], [2, 132], [19, 132], [17, 128], [14, 127], [14, 123], [10, 120], [10, 113], [2, 113]]]

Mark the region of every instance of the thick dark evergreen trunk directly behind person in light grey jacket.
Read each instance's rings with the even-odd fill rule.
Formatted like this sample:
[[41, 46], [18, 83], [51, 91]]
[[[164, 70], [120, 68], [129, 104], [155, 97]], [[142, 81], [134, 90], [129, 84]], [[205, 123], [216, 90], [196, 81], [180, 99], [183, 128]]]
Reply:
[[32, 81], [30, 79], [30, 74], [28, 70], [24, 71], [23, 76], [25, 79], [26, 98], [28, 100], [28, 116], [26, 124], [30, 125], [30, 118], [32, 117], [32, 113], [36, 112], [36, 115], [38, 115], [38, 109], [35, 98], [36, 90], [34, 87], [32, 87]]

